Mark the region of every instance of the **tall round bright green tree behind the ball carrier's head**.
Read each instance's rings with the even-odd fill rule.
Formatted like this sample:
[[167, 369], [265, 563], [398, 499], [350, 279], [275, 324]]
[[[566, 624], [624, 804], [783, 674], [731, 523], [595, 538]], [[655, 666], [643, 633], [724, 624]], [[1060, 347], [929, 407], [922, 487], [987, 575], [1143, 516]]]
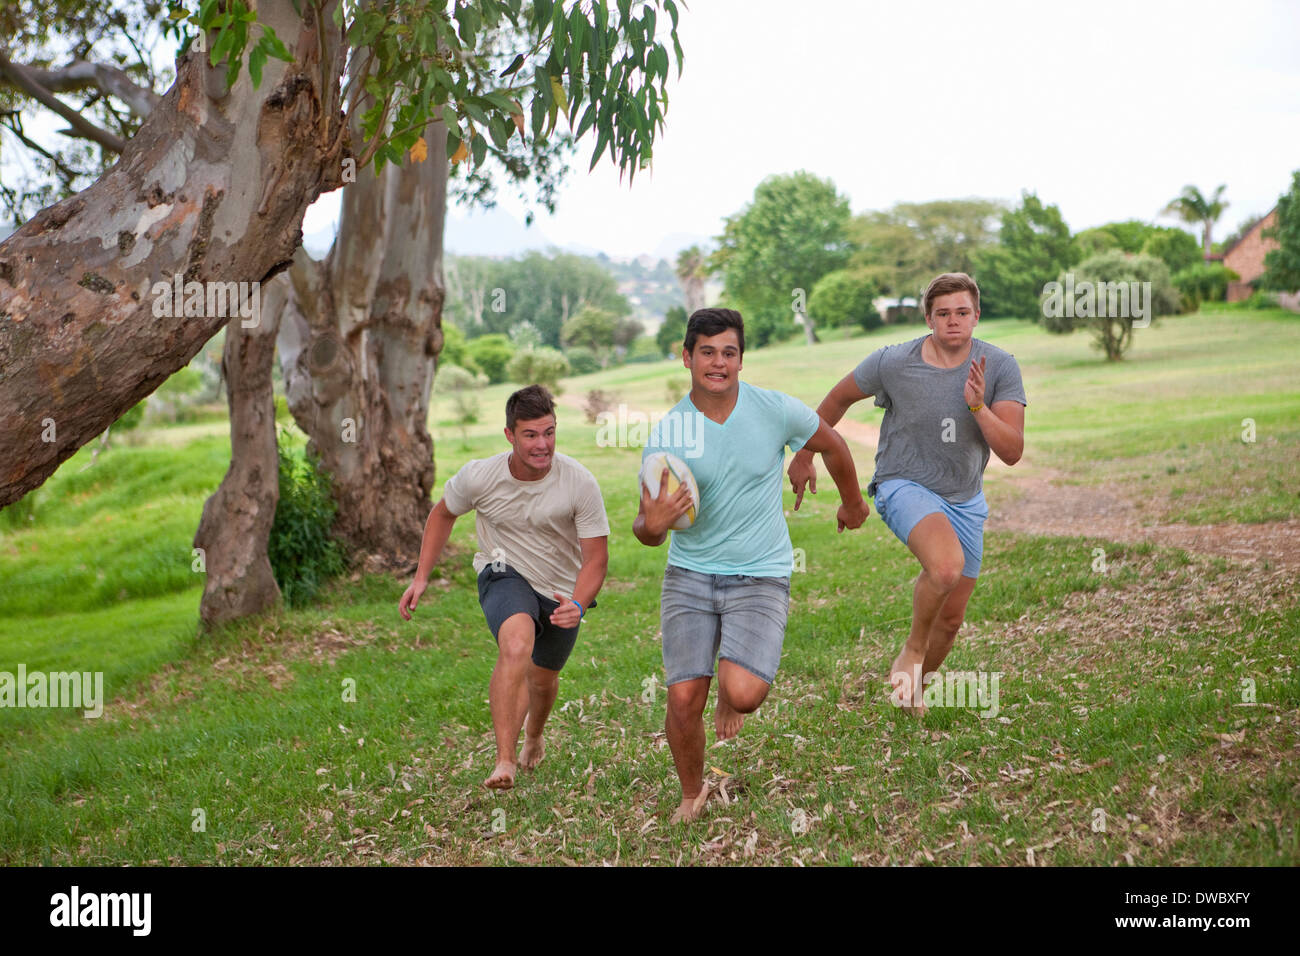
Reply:
[[[807, 172], [772, 176], [754, 200], [729, 216], [710, 258], [725, 300], [745, 316], [745, 343], [759, 347], [794, 332], [794, 306], [849, 259], [849, 200]], [[805, 325], [814, 338], [811, 323]]]

